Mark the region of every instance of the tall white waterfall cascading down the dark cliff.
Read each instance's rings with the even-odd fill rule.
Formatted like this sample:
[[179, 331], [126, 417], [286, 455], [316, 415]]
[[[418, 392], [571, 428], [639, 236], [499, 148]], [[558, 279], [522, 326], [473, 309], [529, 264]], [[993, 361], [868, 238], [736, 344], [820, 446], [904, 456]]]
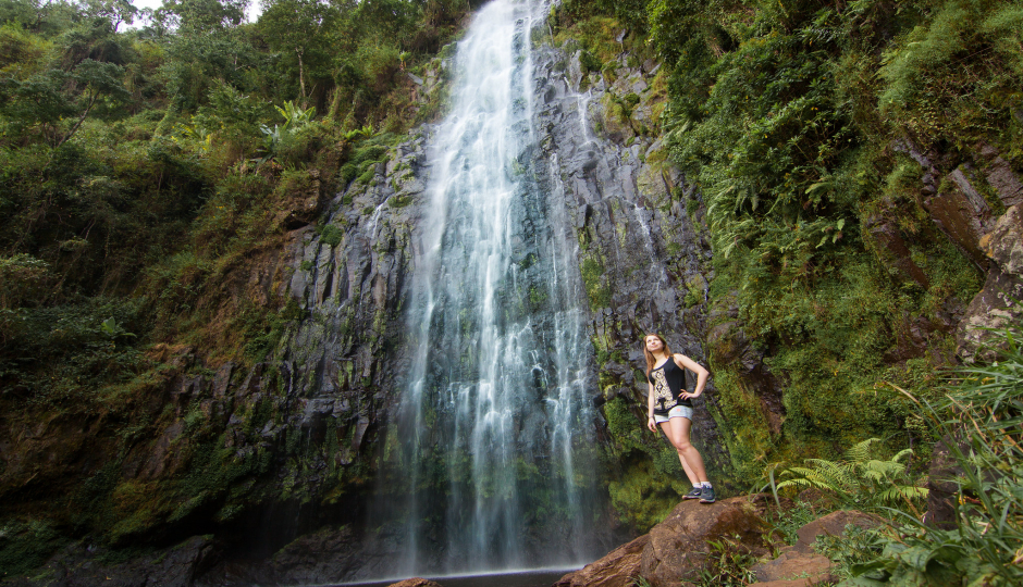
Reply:
[[495, 0], [479, 12], [433, 142], [407, 386], [374, 513], [400, 528], [405, 573], [596, 554], [595, 380], [577, 245], [564, 195], [537, 179], [557, 174], [534, 170], [530, 34], [549, 8]]

